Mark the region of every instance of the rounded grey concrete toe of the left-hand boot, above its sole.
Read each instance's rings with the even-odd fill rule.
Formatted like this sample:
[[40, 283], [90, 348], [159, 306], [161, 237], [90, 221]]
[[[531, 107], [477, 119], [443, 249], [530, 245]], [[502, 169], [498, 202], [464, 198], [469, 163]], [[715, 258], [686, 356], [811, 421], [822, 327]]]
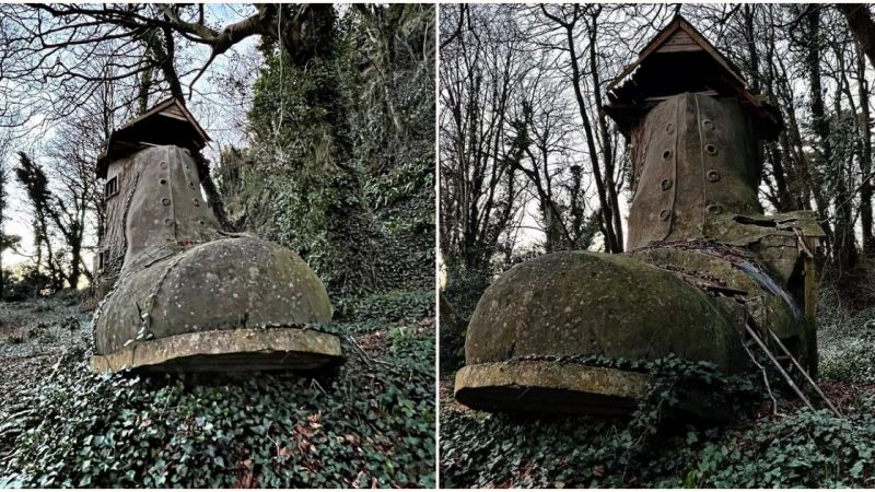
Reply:
[[256, 237], [229, 237], [122, 274], [95, 319], [95, 348], [112, 353], [131, 340], [330, 319], [325, 288], [301, 258]]

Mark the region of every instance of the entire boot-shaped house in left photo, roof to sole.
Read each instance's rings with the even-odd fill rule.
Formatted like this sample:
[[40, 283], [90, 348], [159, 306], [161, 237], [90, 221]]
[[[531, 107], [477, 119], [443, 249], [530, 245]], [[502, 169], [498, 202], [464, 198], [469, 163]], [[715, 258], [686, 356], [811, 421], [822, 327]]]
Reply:
[[325, 286], [291, 250], [222, 231], [196, 159], [209, 138], [175, 99], [115, 131], [94, 314], [98, 372], [313, 370], [341, 360]]

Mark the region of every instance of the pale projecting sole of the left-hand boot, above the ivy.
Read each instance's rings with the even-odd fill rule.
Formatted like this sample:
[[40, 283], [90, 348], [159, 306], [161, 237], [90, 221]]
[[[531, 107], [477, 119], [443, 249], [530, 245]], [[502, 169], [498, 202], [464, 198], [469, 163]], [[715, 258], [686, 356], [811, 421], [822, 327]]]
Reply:
[[94, 355], [95, 372], [314, 370], [342, 361], [338, 337], [301, 328], [249, 328], [174, 335]]

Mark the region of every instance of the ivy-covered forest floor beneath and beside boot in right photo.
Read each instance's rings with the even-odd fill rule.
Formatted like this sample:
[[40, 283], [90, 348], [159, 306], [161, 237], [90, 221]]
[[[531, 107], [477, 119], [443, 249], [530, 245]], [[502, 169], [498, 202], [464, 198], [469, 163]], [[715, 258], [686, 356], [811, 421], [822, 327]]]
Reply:
[[828, 285], [819, 296], [820, 387], [841, 418], [813, 391], [818, 410], [805, 408], [777, 377], [777, 411], [761, 377], [751, 376], [756, 390], [732, 422], [658, 429], [648, 424], [653, 407], [631, 421], [472, 411], [453, 399], [444, 377], [441, 487], [872, 488], [875, 307], [842, 305]]

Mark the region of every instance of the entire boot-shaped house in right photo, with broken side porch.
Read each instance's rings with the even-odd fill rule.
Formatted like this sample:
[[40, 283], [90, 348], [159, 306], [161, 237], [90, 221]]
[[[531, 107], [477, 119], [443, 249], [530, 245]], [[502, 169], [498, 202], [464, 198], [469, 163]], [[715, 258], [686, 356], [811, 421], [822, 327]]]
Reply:
[[[544, 255], [498, 279], [470, 319], [456, 398], [489, 411], [626, 413], [649, 376], [595, 356], [675, 354], [731, 374], [755, 337], [814, 370], [805, 251], [824, 233], [810, 212], [763, 215], [757, 198], [780, 113], [679, 16], [608, 99], [633, 155], [627, 253]], [[684, 406], [714, 415], [707, 390]]]

